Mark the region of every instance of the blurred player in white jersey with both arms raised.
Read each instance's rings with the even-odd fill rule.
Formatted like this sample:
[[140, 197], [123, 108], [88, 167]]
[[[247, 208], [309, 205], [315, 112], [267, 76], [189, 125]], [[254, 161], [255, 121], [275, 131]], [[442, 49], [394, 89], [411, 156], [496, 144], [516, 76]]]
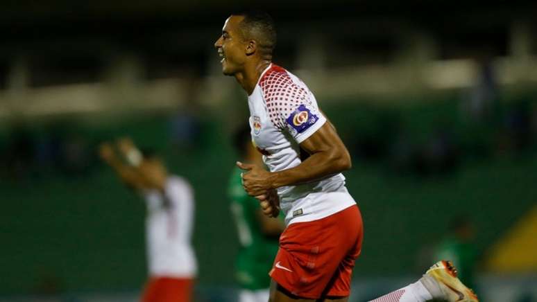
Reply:
[[[122, 181], [144, 196], [149, 278], [142, 302], [189, 302], [196, 256], [191, 247], [194, 197], [185, 179], [169, 175], [155, 154], [144, 154], [130, 139], [103, 143], [101, 158]], [[124, 160], [123, 160], [124, 159]]]

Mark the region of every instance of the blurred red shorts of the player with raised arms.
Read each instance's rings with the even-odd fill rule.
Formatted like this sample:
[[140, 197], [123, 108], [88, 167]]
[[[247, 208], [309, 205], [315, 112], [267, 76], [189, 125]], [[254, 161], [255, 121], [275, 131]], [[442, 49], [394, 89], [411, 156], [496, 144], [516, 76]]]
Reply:
[[142, 302], [189, 302], [194, 280], [190, 278], [152, 277], [147, 281]]

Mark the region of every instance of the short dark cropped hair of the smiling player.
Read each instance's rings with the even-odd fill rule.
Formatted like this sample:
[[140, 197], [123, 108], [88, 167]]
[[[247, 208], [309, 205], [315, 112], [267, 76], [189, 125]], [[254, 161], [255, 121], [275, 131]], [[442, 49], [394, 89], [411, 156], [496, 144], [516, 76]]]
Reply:
[[276, 47], [276, 26], [269, 14], [262, 10], [247, 10], [233, 15], [244, 17], [239, 24], [244, 39], [255, 39], [261, 51], [273, 53]]

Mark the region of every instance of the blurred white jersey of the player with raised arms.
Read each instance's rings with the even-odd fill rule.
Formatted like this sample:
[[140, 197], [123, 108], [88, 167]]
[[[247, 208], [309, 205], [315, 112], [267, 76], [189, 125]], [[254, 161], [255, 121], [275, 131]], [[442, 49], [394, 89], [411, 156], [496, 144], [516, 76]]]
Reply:
[[194, 197], [191, 186], [170, 176], [164, 194], [147, 191], [146, 241], [149, 274], [153, 277], [193, 278], [197, 263], [191, 246]]

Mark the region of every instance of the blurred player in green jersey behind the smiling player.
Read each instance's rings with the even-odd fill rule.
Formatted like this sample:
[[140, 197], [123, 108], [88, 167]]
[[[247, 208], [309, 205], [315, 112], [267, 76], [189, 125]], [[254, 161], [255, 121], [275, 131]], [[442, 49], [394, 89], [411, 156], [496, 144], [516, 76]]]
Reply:
[[[262, 166], [261, 154], [250, 138], [250, 127], [241, 127], [233, 137], [241, 160]], [[230, 177], [228, 195], [237, 223], [241, 249], [237, 255], [237, 281], [241, 287], [239, 302], [269, 301], [271, 278], [267, 274], [278, 251], [278, 238], [284, 230], [280, 217], [264, 215], [259, 202], [242, 187], [241, 169], [235, 167]]]

